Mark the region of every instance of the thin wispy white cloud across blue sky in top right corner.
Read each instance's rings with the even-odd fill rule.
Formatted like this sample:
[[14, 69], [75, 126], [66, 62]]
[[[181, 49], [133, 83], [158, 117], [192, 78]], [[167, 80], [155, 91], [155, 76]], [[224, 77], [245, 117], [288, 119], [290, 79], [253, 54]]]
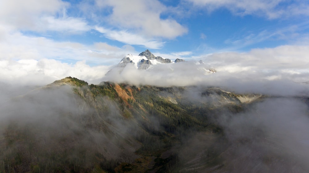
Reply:
[[294, 1], [286, 4], [285, 0], [264, 1], [264, 0], [187, 0], [194, 6], [206, 7], [207, 10], [214, 11], [224, 7], [236, 15], [258, 15], [265, 16], [269, 19], [290, 17], [297, 15], [308, 16], [309, 4], [302, 1]]

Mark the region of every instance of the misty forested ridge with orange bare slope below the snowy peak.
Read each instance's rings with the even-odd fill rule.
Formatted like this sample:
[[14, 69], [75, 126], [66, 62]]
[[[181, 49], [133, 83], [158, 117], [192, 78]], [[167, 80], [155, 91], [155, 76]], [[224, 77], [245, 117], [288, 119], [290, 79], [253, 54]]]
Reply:
[[216, 117], [243, 111], [238, 98], [219, 88], [55, 81], [12, 101], [0, 172], [220, 172], [228, 144]]

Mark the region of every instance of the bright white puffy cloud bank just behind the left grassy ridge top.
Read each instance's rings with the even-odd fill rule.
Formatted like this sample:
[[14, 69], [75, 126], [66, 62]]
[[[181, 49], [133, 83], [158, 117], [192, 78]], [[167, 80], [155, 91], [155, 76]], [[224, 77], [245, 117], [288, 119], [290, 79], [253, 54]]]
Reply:
[[85, 61], [75, 64], [54, 59], [0, 60], [0, 81], [17, 85], [46, 85], [72, 76], [98, 84], [110, 66], [89, 66]]

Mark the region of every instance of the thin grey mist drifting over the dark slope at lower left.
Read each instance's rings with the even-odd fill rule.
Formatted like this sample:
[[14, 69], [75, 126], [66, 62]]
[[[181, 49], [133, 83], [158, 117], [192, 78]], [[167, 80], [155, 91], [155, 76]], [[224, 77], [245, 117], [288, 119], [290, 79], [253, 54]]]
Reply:
[[[31, 142], [19, 143], [20, 137], [14, 136], [16, 140], [12, 138], [11, 145], [1, 147], [4, 154], [0, 156], [1, 160], [15, 158], [16, 155], [25, 155], [35, 150], [36, 153], [41, 153], [38, 157], [43, 160], [42, 163], [47, 159], [53, 159], [46, 153], [54, 153], [53, 155], [61, 160], [57, 163], [58, 167], [64, 168], [67, 168], [67, 164], [62, 164], [62, 160], [75, 162], [74, 158], [88, 158], [83, 161], [83, 168], [80, 170], [85, 167], [91, 170], [97, 153], [104, 155], [104, 160], [114, 158], [122, 162], [133, 162], [138, 158], [134, 151], [140, 148], [141, 144], [133, 138], [136, 134], [132, 132], [133, 129], [136, 131], [140, 128], [136, 122], [122, 119], [120, 107], [113, 100], [107, 97], [95, 97], [94, 104], [104, 105], [104, 110], [95, 111], [92, 103], [76, 95], [71, 86], [37, 88], [29, 91], [25, 87], [0, 83], [0, 88], [1, 139], [4, 139], [4, 132], [9, 131], [9, 126], [19, 128], [15, 131], [16, 134], [27, 131], [26, 137], [31, 139]], [[17, 96], [16, 92], [22, 95]], [[86, 90], [81, 92], [87, 93]], [[88, 94], [92, 97], [91, 92]], [[12, 96], [17, 97], [12, 99]], [[100, 127], [104, 127], [104, 132]], [[24, 147], [28, 148], [21, 149]], [[6, 151], [13, 148], [18, 148], [18, 151], [7, 155]], [[70, 152], [67, 152], [68, 150]], [[75, 152], [82, 150], [87, 152]], [[56, 164], [55, 160], [53, 164]], [[30, 169], [30, 163], [22, 167]], [[52, 166], [46, 168], [51, 169]]]

